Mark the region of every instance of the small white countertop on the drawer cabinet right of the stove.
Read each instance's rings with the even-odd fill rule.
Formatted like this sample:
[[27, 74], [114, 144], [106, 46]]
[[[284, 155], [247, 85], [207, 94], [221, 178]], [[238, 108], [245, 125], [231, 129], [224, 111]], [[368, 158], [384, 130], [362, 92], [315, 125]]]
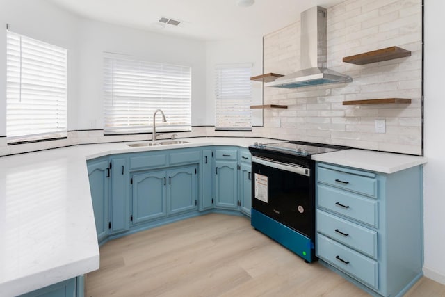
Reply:
[[424, 164], [428, 158], [410, 156], [390, 152], [375, 152], [372, 150], [339, 150], [325, 154], [314, 154], [312, 159], [325, 163], [350, 166], [382, 173], [394, 173], [400, 170]]

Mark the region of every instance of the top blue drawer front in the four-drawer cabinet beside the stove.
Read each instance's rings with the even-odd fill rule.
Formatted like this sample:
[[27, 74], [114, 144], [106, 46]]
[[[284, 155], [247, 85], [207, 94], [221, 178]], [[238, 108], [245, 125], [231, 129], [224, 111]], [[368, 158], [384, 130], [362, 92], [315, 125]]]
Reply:
[[348, 191], [377, 198], [377, 180], [371, 177], [354, 175], [348, 172], [318, 167], [317, 180]]

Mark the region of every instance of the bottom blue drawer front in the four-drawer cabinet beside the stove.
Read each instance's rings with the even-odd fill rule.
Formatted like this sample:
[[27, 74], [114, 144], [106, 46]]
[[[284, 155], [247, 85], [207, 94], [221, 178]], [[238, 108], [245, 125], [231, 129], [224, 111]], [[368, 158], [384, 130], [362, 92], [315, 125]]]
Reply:
[[316, 237], [316, 255], [373, 289], [378, 289], [378, 262], [328, 239]]

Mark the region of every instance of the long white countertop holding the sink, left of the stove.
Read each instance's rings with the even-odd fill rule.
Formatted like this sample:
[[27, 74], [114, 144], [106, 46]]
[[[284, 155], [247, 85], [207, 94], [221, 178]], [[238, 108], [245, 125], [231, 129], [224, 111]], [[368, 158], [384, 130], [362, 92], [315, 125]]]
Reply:
[[0, 158], [0, 295], [17, 296], [99, 268], [86, 159], [261, 138], [189, 138], [182, 145], [77, 145]]

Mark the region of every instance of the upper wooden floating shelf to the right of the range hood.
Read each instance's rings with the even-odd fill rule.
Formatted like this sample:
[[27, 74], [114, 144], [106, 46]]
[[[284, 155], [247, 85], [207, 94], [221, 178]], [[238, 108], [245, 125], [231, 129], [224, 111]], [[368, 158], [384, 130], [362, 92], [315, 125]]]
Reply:
[[378, 49], [376, 51], [368, 51], [367, 53], [344, 57], [343, 62], [355, 65], [365, 65], [407, 56], [411, 56], [411, 51], [407, 51], [401, 47], [387, 47], [385, 49]]

